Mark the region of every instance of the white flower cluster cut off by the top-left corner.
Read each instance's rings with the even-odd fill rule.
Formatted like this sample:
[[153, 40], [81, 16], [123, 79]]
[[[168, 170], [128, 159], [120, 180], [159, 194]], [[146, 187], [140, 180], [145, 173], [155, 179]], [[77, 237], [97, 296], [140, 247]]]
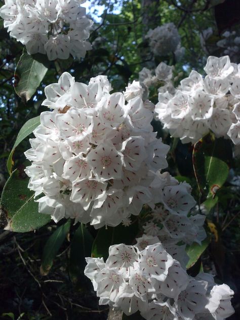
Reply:
[[10, 36], [26, 46], [28, 54], [48, 55], [49, 60], [85, 57], [91, 49], [93, 21], [79, 0], [5, 0], [0, 9]]

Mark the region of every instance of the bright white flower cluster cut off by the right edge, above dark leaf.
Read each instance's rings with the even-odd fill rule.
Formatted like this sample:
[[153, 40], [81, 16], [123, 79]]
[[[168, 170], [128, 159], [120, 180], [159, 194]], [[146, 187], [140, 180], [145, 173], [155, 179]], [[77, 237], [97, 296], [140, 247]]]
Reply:
[[160, 92], [157, 117], [183, 143], [194, 143], [211, 130], [240, 144], [240, 67], [228, 56], [210, 56], [204, 70], [205, 78], [193, 70], [175, 93]]

